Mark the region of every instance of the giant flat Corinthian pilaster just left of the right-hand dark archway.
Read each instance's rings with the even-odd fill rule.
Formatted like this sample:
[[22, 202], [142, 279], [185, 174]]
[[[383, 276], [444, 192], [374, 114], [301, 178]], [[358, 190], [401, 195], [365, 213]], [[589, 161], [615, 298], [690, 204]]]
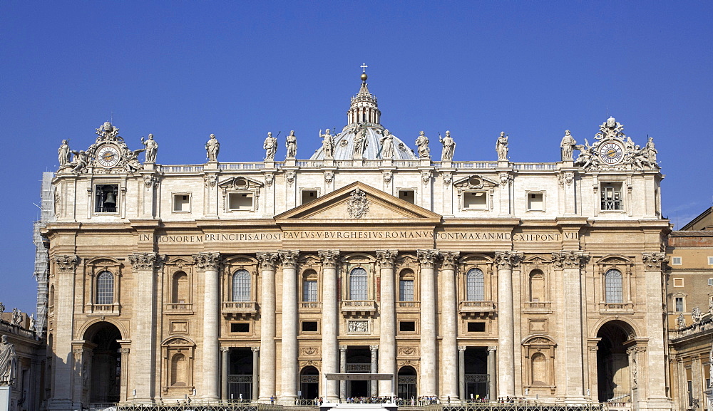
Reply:
[[565, 380], [567, 387], [565, 395], [568, 400], [584, 398], [584, 352], [582, 345], [582, 272], [588, 254], [582, 251], [559, 251], [552, 253], [552, 261], [556, 269], [562, 270], [562, 285], [565, 298], [565, 322], [562, 332], [565, 354]]

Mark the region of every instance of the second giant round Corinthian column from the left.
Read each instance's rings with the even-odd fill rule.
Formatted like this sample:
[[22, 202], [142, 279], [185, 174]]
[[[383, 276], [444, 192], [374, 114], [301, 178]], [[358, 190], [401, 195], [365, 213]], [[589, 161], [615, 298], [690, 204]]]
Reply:
[[[257, 253], [262, 276], [260, 297], [260, 401], [275, 396], [275, 261], [277, 253]], [[254, 382], [253, 382], [254, 383]]]

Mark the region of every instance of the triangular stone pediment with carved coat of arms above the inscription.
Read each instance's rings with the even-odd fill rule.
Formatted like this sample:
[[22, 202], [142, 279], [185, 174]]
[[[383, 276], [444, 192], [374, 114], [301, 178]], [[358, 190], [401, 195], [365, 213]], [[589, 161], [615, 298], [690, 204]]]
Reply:
[[438, 223], [441, 221], [441, 214], [406, 202], [362, 182], [353, 182], [312, 202], [275, 216], [277, 222], [291, 222], [298, 219], [352, 223], [419, 219], [423, 222]]

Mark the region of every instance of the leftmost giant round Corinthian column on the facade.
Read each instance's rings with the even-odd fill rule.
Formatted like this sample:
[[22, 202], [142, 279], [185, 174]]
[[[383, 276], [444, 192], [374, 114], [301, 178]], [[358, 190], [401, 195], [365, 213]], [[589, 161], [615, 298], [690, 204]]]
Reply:
[[217, 400], [220, 387], [220, 253], [193, 254], [193, 261], [198, 270], [203, 271], [203, 392], [200, 396]]

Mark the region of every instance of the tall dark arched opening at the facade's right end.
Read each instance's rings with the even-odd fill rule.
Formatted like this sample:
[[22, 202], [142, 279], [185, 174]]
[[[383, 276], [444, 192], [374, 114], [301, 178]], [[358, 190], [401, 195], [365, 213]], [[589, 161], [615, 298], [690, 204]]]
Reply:
[[623, 321], [609, 321], [597, 337], [597, 385], [600, 402], [631, 400], [629, 358], [625, 343], [634, 337], [631, 326]]

